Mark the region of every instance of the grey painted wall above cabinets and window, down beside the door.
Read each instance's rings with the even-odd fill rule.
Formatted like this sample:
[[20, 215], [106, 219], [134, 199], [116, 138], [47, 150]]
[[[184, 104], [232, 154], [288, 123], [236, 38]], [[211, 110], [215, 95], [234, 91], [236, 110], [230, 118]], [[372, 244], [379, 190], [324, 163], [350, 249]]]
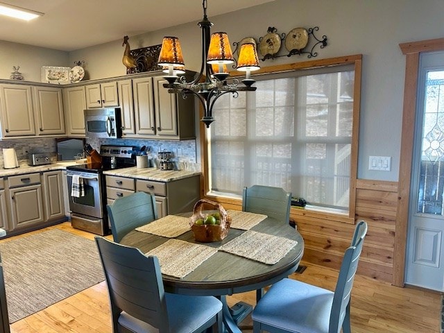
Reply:
[[[276, 0], [218, 17], [212, 17], [211, 1], [207, 8], [207, 15], [214, 23], [212, 31], [226, 31], [231, 42], [239, 42], [244, 37], [259, 40], [268, 26], [274, 26], [280, 34], [300, 26], [319, 26], [318, 35], [327, 35], [328, 46], [317, 49], [315, 60], [363, 54], [358, 176], [389, 181], [398, 180], [400, 160], [405, 57], [399, 44], [444, 37], [443, 12], [443, 0]], [[147, 19], [149, 15], [147, 13]], [[176, 35], [182, 44], [185, 65], [198, 70], [200, 29], [196, 24], [130, 36], [131, 49], [160, 44], [164, 35]], [[71, 52], [65, 65], [85, 60], [87, 74], [93, 79], [124, 75], [121, 43], [122, 40], [118, 40]], [[0, 56], [2, 49], [0, 47]], [[32, 59], [26, 59], [31, 65]], [[266, 60], [261, 65], [306, 60], [306, 56], [282, 57]], [[41, 60], [35, 64], [39, 69], [41, 65]], [[1, 77], [7, 76], [10, 66], [2, 67]], [[24, 74], [26, 76], [26, 71]], [[391, 156], [391, 171], [368, 171], [369, 155]]]

